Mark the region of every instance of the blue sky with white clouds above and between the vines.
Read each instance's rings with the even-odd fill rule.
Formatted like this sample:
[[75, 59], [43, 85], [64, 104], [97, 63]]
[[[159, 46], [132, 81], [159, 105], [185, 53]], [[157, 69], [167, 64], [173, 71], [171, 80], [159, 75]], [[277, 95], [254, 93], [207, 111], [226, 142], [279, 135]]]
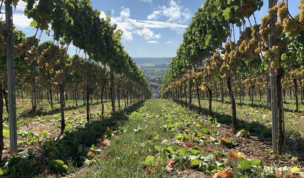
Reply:
[[[111, 23], [123, 30], [122, 44], [131, 57], [174, 57], [179, 44], [183, 41], [185, 28], [190, 24], [204, 0], [91, 0], [94, 9], [105, 17], [111, 13]], [[13, 23], [26, 36], [32, 36], [36, 30], [29, 24], [32, 21], [23, 15], [25, 2], [19, 2], [14, 10]], [[299, 0], [289, 1], [291, 15], [299, 12]], [[256, 12], [257, 23], [267, 14], [268, 0], [260, 12]], [[2, 7], [4, 13], [4, 7]], [[4, 14], [0, 18], [5, 19]], [[251, 19], [251, 18], [250, 18]], [[249, 26], [249, 25], [248, 25]], [[41, 41], [51, 40], [43, 33]], [[70, 46], [68, 53], [75, 54], [76, 47]]]

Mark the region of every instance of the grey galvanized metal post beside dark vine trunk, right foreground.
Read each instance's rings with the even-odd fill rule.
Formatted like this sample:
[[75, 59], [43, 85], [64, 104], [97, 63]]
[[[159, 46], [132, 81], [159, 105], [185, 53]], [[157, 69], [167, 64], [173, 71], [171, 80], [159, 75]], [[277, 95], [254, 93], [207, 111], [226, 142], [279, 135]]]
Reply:
[[[275, 0], [268, 0], [269, 2], [269, 9], [272, 8]], [[277, 14], [275, 17], [271, 19], [270, 28], [272, 28], [272, 33], [269, 36], [269, 46], [276, 46], [277, 39], [275, 38], [275, 23], [278, 20]], [[270, 56], [270, 63], [273, 61], [273, 56]], [[271, 121], [272, 121], [272, 148], [273, 152], [276, 153], [278, 151], [277, 148], [277, 139], [278, 139], [278, 107], [277, 107], [277, 88], [275, 85], [275, 69], [270, 68], [270, 90], [271, 90]]]

